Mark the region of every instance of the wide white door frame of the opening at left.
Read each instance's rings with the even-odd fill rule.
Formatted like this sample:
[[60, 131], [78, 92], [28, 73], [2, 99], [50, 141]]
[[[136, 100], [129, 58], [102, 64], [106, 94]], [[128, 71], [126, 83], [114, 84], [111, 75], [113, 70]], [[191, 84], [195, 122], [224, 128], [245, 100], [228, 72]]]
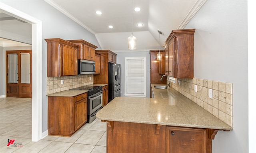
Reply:
[[42, 21], [0, 2], [0, 9], [32, 24], [32, 141], [42, 139]]

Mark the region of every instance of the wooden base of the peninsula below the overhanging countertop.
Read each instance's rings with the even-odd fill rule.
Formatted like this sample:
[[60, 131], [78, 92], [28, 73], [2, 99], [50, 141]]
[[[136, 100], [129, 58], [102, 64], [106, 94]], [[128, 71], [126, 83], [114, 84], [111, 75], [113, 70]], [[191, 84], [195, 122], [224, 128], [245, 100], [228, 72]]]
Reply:
[[103, 122], [107, 122], [107, 153], [212, 153], [212, 139], [220, 130]]

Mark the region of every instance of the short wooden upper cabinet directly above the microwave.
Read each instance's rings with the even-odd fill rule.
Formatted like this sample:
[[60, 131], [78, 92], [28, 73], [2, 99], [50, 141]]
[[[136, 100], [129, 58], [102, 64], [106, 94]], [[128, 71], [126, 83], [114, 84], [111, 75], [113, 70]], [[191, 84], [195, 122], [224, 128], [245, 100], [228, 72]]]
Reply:
[[97, 46], [88, 43], [82, 39], [80, 40], [68, 40], [76, 45], [79, 45], [78, 48], [78, 59], [86, 59], [90, 61], [95, 61], [95, 49], [98, 48]]

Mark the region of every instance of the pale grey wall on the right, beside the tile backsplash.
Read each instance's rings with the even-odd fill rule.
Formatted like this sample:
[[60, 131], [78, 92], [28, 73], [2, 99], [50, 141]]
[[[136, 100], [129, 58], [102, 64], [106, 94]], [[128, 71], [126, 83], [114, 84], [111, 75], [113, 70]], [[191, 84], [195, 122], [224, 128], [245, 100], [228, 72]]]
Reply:
[[247, 1], [208, 0], [185, 27], [194, 34], [194, 77], [233, 83], [232, 131], [219, 131], [213, 153], [248, 153]]

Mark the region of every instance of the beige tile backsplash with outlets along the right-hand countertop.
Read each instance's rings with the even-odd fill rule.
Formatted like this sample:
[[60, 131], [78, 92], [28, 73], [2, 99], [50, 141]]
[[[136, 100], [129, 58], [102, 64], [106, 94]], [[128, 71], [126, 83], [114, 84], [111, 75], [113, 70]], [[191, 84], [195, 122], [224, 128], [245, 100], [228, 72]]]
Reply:
[[[180, 85], [178, 83], [180, 80]], [[200, 78], [180, 78], [177, 83], [170, 82], [174, 88], [229, 126], [233, 127], [233, 84]], [[194, 86], [197, 91], [194, 91]], [[212, 89], [212, 98], [208, 97]]]

